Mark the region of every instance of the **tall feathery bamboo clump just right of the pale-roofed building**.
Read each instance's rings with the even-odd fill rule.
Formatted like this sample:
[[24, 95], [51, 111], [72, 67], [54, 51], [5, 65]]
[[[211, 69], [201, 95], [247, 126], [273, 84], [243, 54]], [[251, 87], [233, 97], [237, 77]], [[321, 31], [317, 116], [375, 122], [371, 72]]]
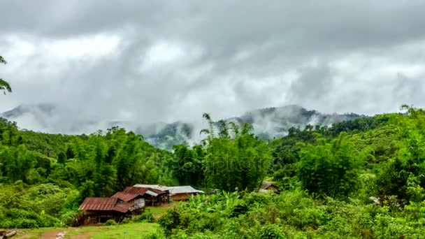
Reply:
[[215, 137], [210, 116], [203, 117], [210, 125], [201, 131], [208, 134], [203, 159], [208, 186], [226, 191], [258, 188], [273, 161], [270, 147], [254, 137], [249, 124], [240, 129], [231, 124], [234, 135], [231, 138], [226, 123], [220, 122], [219, 137]]

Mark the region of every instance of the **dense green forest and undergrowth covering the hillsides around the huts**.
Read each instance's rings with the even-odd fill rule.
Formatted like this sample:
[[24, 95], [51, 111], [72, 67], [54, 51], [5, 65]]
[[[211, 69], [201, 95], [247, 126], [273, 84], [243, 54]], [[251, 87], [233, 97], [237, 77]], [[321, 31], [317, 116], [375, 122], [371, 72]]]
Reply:
[[[205, 114], [204, 140], [172, 152], [117, 127], [64, 136], [2, 119], [0, 228], [72, 226], [87, 196], [190, 184], [219, 190], [169, 208], [152, 238], [422, 238], [425, 112], [403, 110], [270, 141]], [[266, 179], [278, 194], [256, 192]]]

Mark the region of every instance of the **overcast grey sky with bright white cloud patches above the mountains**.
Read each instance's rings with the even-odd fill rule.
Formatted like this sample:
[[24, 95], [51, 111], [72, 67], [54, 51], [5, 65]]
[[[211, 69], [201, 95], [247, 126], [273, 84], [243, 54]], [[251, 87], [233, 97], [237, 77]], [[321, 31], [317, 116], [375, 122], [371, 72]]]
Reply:
[[173, 122], [424, 106], [425, 1], [0, 1], [0, 111]]

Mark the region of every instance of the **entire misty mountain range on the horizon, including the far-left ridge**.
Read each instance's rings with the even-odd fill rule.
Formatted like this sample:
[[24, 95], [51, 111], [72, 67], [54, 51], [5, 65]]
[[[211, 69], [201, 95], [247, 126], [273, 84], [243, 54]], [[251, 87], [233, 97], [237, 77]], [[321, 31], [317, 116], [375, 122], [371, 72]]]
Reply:
[[[171, 150], [178, 143], [199, 143], [201, 126], [188, 122], [156, 123], [144, 125], [139, 122], [106, 121], [98, 119], [83, 119], [75, 115], [64, 117], [66, 110], [54, 104], [22, 105], [2, 113], [0, 116], [17, 122], [18, 126], [34, 131], [49, 133], [92, 133], [98, 129], [112, 126], [124, 126], [140, 133], [145, 140], [156, 147]], [[287, 134], [291, 127], [303, 129], [311, 125], [331, 125], [336, 122], [356, 119], [363, 115], [323, 114], [316, 110], [307, 110], [301, 106], [283, 106], [278, 108], [263, 108], [252, 110], [239, 117], [224, 119], [239, 125], [252, 124], [254, 133], [263, 139], [273, 139]], [[217, 124], [215, 124], [217, 126]]]

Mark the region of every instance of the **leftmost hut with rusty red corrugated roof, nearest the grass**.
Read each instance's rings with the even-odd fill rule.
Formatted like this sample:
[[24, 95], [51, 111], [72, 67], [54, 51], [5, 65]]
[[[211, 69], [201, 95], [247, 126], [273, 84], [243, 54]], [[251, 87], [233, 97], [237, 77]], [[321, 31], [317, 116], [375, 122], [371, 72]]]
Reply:
[[82, 211], [81, 224], [103, 223], [109, 219], [121, 222], [131, 217], [131, 203], [118, 198], [85, 198], [78, 210]]

